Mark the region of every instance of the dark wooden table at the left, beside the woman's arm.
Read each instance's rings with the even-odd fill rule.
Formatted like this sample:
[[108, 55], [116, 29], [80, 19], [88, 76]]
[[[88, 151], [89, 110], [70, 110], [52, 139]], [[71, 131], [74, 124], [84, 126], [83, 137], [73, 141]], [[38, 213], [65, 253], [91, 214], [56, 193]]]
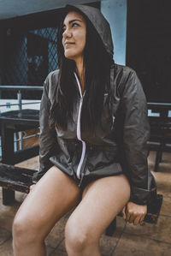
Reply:
[[[38, 155], [38, 146], [14, 151], [14, 133], [39, 127], [39, 110], [12, 110], [0, 115], [2, 136], [2, 163], [17, 164]], [[3, 204], [15, 199], [15, 191], [3, 188]]]

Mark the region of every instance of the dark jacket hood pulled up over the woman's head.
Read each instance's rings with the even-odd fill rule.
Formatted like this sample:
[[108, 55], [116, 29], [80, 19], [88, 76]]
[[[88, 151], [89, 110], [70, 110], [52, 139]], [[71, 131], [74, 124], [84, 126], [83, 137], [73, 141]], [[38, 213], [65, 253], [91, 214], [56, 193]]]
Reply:
[[67, 4], [66, 8], [79, 11], [80, 14], [83, 14], [91, 22], [92, 27], [95, 28], [100, 39], [102, 39], [103, 45], [109, 53], [109, 56], [113, 58], [114, 46], [109, 22], [104, 18], [100, 10], [91, 6], [78, 4]]

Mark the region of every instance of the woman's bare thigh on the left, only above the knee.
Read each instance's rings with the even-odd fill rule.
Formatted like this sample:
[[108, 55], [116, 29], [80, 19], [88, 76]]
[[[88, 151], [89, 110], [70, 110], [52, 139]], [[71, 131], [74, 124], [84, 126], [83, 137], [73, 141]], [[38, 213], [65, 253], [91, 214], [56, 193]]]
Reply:
[[43, 237], [66, 212], [80, 201], [80, 188], [55, 166], [50, 168], [28, 193], [15, 220], [27, 222]]

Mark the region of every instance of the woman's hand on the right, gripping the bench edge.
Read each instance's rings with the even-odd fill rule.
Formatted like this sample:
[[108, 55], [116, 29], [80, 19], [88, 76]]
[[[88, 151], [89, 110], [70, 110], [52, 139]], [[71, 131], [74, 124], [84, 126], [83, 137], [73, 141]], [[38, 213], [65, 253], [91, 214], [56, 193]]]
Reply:
[[121, 211], [123, 218], [134, 225], [143, 223], [147, 213], [147, 205], [137, 205], [133, 202], [128, 202]]

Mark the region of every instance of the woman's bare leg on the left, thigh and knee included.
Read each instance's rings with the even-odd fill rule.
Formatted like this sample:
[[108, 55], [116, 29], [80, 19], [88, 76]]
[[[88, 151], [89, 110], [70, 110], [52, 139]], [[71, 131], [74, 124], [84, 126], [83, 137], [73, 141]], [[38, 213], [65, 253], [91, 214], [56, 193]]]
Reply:
[[17, 211], [13, 224], [15, 256], [44, 256], [44, 238], [80, 201], [80, 188], [55, 166], [39, 180]]

